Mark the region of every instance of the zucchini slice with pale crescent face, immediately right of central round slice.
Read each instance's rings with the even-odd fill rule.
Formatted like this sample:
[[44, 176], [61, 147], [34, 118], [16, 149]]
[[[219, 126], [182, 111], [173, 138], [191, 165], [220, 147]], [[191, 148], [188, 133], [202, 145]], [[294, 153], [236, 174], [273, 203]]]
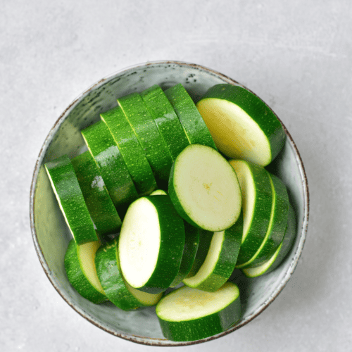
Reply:
[[238, 267], [256, 254], [265, 239], [272, 213], [272, 187], [268, 171], [249, 161], [231, 160], [241, 185], [244, 229]]

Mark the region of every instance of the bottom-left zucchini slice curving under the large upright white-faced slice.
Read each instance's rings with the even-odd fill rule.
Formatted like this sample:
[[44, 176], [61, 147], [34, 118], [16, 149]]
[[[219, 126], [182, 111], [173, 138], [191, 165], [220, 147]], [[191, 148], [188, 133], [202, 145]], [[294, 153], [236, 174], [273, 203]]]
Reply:
[[163, 294], [147, 294], [130, 287], [121, 274], [117, 240], [101, 246], [95, 257], [96, 272], [109, 301], [122, 310], [155, 306]]

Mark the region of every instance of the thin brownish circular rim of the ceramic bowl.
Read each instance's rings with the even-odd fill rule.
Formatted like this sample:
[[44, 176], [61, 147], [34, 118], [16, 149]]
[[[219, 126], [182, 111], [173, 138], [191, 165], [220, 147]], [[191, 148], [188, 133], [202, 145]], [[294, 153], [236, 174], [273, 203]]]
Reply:
[[[230, 329], [227, 329], [225, 332], [221, 332], [220, 334], [213, 335], [212, 337], [207, 337], [204, 339], [196, 340], [196, 341], [182, 341], [182, 342], [172, 342], [170, 343], [165, 343], [164, 341], [168, 341], [167, 339], [153, 339], [151, 337], [141, 337], [137, 336], [134, 334], [122, 334], [119, 332], [113, 331], [113, 329], [109, 329], [108, 327], [104, 327], [99, 322], [96, 322], [93, 317], [91, 317], [89, 314], [84, 312], [81, 308], [77, 308], [73, 303], [70, 302], [70, 300], [65, 297], [65, 294], [61, 292], [61, 285], [59, 282], [56, 282], [56, 279], [53, 277], [51, 274], [51, 270], [49, 268], [49, 265], [47, 265], [46, 260], [44, 258], [44, 253], [42, 252], [42, 249], [39, 246], [39, 241], [37, 238], [37, 232], [35, 230], [35, 221], [34, 221], [34, 196], [35, 196], [35, 190], [36, 190], [36, 185], [37, 185], [37, 177], [39, 174], [39, 168], [42, 165], [42, 161], [44, 160], [44, 155], [46, 153], [46, 149], [49, 147], [49, 144], [51, 143], [51, 139], [54, 136], [54, 134], [57, 132], [58, 127], [60, 127], [61, 123], [65, 118], [69, 115], [70, 111], [73, 110], [73, 108], [81, 101], [82, 98], [84, 98], [85, 95], [87, 95], [89, 92], [92, 91], [92, 89], [95, 89], [96, 87], [101, 86], [104, 82], [113, 79], [114, 77], [118, 75], [122, 75], [124, 73], [127, 73], [130, 70], [135, 70], [137, 68], [141, 67], [146, 67], [149, 65], [180, 65], [180, 66], [187, 66], [187, 67], [192, 67], [192, 68], [199, 68], [203, 71], [206, 71], [208, 73], [212, 73], [213, 75], [216, 75], [218, 77], [221, 77], [223, 80], [229, 82], [230, 84], [234, 85], [241, 85], [242, 87], [246, 88], [243, 84], [240, 84], [239, 82], [233, 80], [232, 78], [228, 77], [227, 75], [224, 75], [222, 73], [219, 73], [218, 71], [215, 71], [211, 68], [207, 68], [203, 65], [199, 65], [196, 63], [188, 63], [184, 61], [170, 61], [170, 60], [162, 60], [162, 61], [148, 61], [146, 63], [138, 63], [136, 65], [131, 65], [128, 66], [127, 68], [123, 68], [122, 70], [115, 71], [115, 73], [111, 73], [110, 75], [103, 77], [101, 80], [97, 81], [96, 83], [92, 84], [91, 87], [88, 89], [84, 90], [79, 96], [77, 96], [71, 103], [70, 105], [65, 108], [63, 113], [61, 113], [60, 117], [56, 120], [54, 123], [53, 127], [51, 127], [51, 130], [49, 131], [49, 134], [47, 134], [46, 139], [44, 140], [44, 143], [42, 144], [42, 148], [39, 151], [39, 155], [37, 157], [37, 161], [34, 166], [34, 172], [32, 176], [32, 182], [31, 182], [31, 187], [30, 187], [30, 228], [32, 232], [32, 239], [34, 242], [34, 248], [37, 252], [37, 256], [39, 258], [39, 262], [42, 265], [42, 268], [46, 274], [46, 277], [48, 277], [49, 281], [51, 284], [54, 286], [58, 294], [65, 300], [68, 305], [73, 308], [77, 313], [82, 315], [83, 318], [87, 319], [89, 322], [91, 322], [93, 325], [96, 327], [99, 327], [100, 329], [103, 329], [103, 331], [108, 332], [110, 334], [113, 334], [116, 337], [120, 337], [122, 339], [125, 339], [127, 341], [132, 341], [137, 344], [144, 344], [147, 346], [165, 346], [165, 347], [170, 347], [170, 346], [188, 346], [188, 345], [193, 345], [193, 344], [201, 344], [206, 341], [211, 341], [214, 339], [218, 339], [219, 337], [225, 336], [227, 334], [230, 334], [231, 332], [234, 332], [235, 330], [239, 329], [240, 327], [243, 327], [244, 325], [248, 324], [256, 318], [260, 313], [263, 312], [270, 304], [272, 301], [275, 300], [275, 298], [279, 295], [279, 293], [284, 289], [286, 286], [287, 282], [291, 278], [291, 276], [294, 273], [294, 270], [296, 269], [296, 266], [298, 264], [298, 260], [301, 256], [301, 253], [303, 251], [303, 246], [306, 241], [306, 234], [308, 230], [308, 218], [309, 218], [309, 190], [308, 190], [308, 180], [306, 176], [306, 170], [303, 165], [303, 161], [301, 158], [301, 155], [296, 147], [296, 144], [294, 143], [294, 139], [291, 137], [291, 134], [287, 130], [287, 128], [284, 126], [284, 123], [282, 120], [279, 119], [279, 117], [276, 115], [277, 119], [279, 122], [281, 122], [282, 127], [284, 128], [284, 132], [289, 139], [289, 144], [291, 148], [294, 150], [295, 156], [296, 156], [296, 163], [298, 165], [298, 169], [301, 174], [301, 181], [303, 185], [303, 222], [302, 222], [302, 227], [300, 229], [299, 233], [299, 242], [298, 246], [296, 248], [296, 252], [294, 253], [294, 257], [291, 260], [291, 263], [289, 265], [289, 268], [287, 268], [287, 271], [284, 273], [284, 277], [275, 289], [275, 291], [272, 293], [272, 295], [267, 298], [260, 306], [258, 310], [256, 310], [252, 315], [249, 316], [246, 320], [241, 322], [239, 325], [235, 325], [234, 327], [231, 327]], [[248, 88], [246, 88], [248, 89]], [[248, 89], [249, 92], [255, 94], [252, 92], [250, 89]], [[256, 94], [255, 94], [256, 95]], [[161, 342], [163, 341], [163, 342]]]

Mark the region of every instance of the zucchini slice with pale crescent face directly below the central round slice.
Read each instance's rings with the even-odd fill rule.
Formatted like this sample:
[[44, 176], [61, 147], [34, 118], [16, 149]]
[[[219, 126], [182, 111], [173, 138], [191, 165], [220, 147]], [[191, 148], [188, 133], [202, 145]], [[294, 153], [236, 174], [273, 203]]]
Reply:
[[[242, 213], [241, 213], [242, 214]], [[237, 262], [243, 232], [243, 217], [230, 229], [214, 232], [203, 265], [183, 283], [194, 289], [214, 292], [230, 278]]]

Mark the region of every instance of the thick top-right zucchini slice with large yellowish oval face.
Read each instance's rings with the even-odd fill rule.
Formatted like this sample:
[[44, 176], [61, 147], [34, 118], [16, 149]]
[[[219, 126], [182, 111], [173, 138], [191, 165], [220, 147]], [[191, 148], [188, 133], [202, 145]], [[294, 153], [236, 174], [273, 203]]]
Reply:
[[216, 146], [230, 158], [268, 165], [284, 145], [275, 113], [243, 87], [216, 84], [196, 104]]

